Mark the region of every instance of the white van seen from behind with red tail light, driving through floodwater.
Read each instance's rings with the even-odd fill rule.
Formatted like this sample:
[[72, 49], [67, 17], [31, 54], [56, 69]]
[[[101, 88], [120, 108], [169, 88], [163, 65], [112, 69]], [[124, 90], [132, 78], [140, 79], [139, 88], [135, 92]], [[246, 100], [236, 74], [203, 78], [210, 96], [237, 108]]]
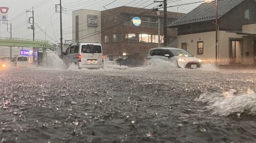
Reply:
[[63, 62], [69, 66], [75, 64], [79, 68], [103, 68], [104, 56], [100, 43], [77, 43], [67, 47], [63, 52]]

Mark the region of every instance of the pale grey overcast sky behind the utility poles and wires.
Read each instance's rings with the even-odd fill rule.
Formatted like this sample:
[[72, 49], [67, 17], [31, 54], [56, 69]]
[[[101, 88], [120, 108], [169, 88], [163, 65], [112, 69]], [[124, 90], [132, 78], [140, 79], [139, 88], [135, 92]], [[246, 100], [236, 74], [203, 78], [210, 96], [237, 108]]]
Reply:
[[[168, 6], [175, 6], [184, 3], [198, 2], [200, 0], [167, 1]], [[159, 5], [159, 3], [153, 2], [154, 0], [62, 0], [64, 10], [62, 14], [63, 40], [72, 39], [72, 34], [70, 34], [70, 32], [72, 32], [72, 10], [104, 10], [103, 6], [105, 6], [106, 9], [111, 9], [123, 5], [139, 8], [147, 6], [146, 8], [151, 9]], [[33, 39], [33, 31], [27, 28], [30, 27], [30, 24], [27, 23], [27, 19], [32, 16], [32, 13], [26, 13], [26, 10], [32, 10], [32, 7], [34, 7], [35, 23], [43, 31], [46, 31], [48, 35], [47, 40], [56, 43], [59, 42], [60, 37], [59, 13], [55, 13], [55, 4], [58, 3], [59, 0], [1, 0], [0, 7], [9, 7], [8, 23], [12, 23], [12, 37]], [[151, 3], [153, 4], [150, 5]], [[168, 8], [168, 11], [188, 13], [198, 5], [200, 5], [200, 3]], [[6, 31], [6, 24], [1, 23], [0, 26], [0, 37], [9, 37], [10, 34]], [[44, 32], [38, 27], [35, 26], [35, 39], [45, 39]]]

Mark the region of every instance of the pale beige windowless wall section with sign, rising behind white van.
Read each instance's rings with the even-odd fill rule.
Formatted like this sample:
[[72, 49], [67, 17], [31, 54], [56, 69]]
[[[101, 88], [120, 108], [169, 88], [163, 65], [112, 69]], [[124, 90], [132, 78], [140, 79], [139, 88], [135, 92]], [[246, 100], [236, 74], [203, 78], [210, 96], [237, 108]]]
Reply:
[[[98, 27], [87, 26], [87, 14], [98, 16]], [[76, 16], [79, 16], [79, 42], [101, 43], [101, 12], [80, 9], [72, 12], [72, 41], [76, 42]], [[98, 34], [97, 34], [98, 33]], [[95, 35], [94, 35], [95, 34]]]

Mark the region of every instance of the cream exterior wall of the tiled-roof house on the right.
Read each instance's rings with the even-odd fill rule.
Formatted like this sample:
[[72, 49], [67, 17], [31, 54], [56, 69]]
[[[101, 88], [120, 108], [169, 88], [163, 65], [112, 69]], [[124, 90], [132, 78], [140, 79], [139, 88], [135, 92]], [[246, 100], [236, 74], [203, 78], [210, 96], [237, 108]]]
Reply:
[[[253, 61], [253, 37], [245, 37], [245, 35], [237, 35], [236, 33], [219, 31], [219, 46], [218, 57], [220, 65], [229, 65], [229, 39], [241, 38], [243, 39], [243, 64], [254, 64]], [[197, 54], [197, 42], [204, 41], [204, 54]], [[178, 47], [181, 48], [182, 43], [187, 43], [187, 51], [195, 57], [202, 60], [214, 63], [215, 61], [215, 31], [204, 32], [198, 34], [179, 35]], [[246, 52], [249, 54], [246, 55]]]

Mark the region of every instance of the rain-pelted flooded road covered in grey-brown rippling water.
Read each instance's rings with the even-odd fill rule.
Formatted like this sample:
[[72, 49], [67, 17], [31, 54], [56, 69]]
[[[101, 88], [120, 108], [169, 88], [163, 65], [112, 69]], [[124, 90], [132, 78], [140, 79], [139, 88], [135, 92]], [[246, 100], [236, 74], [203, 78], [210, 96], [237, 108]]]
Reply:
[[256, 71], [0, 73], [0, 142], [256, 142]]

